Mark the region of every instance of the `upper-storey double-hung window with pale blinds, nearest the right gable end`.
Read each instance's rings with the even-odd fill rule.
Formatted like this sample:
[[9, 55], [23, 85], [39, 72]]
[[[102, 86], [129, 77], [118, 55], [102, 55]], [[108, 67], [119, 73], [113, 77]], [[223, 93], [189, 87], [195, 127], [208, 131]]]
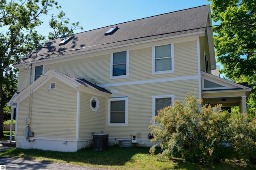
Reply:
[[154, 46], [152, 49], [152, 73], [174, 72], [172, 44]]

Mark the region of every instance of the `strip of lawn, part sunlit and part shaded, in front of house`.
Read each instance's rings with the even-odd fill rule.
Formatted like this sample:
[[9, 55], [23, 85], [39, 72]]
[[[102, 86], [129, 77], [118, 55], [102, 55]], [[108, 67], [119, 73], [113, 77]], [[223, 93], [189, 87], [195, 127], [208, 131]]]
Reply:
[[[157, 149], [160, 152], [160, 149]], [[182, 159], [158, 160], [158, 155], [150, 155], [149, 148], [110, 147], [106, 151], [81, 149], [77, 152], [55, 152], [38, 149], [8, 149], [0, 151], [0, 157], [24, 158], [44, 162], [72, 164], [90, 168], [112, 170], [253, 170], [256, 165], [246, 164], [235, 158], [223, 159], [213, 164], [195, 164]]]

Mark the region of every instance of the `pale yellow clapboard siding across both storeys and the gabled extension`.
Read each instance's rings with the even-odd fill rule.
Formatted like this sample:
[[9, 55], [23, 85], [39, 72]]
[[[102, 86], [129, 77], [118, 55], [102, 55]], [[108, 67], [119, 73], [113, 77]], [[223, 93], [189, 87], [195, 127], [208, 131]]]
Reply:
[[[132, 50], [124, 47], [115, 49], [115, 51], [106, 50], [104, 53], [98, 53], [99, 55], [96, 57], [88, 57], [88, 54], [84, 54], [78, 56], [84, 57], [82, 59], [45, 65], [45, 72], [52, 68], [70, 76], [85, 78], [95, 84], [198, 75], [197, 41], [174, 43], [174, 72], [152, 75], [152, 47], [166, 43], [171, 43], [171, 41], [158, 41], [157, 44], [151, 42], [146, 46], [138, 45], [138, 48], [132, 46], [130, 47]], [[130, 54], [129, 77], [110, 79], [111, 53], [124, 50], [129, 50]], [[22, 90], [28, 85], [29, 74], [22, 73], [20, 76], [24, 78], [19, 84], [21, 87], [19, 90]], [[55, 90], [47, 90], [50, 82], [56, 82]], [[96, 96], [100, 107], [97, 111], [92, 111], [89, 106], [92, 95], [81, 92], [79, 139], [90, 138], [92, 132], [99, 133], [100, 131], [109, 133], [109, 137], [114, 138], [130, 138], [132, 132], [140, 131], [141, 138], [146, 139], [150, 133], [148, 127], [152, 119], [152, 96], [170, 94], [175, 95], [175, 100], [183, 101], [188, 92], [198, 97], [198, 88], [198, 79], [106, 88], [107, 90], [118, 90], [118, 93], [110, 95], [111, 97], [128, 96], [128, 126], [108, 126], [108, 100]], [[34, 131], [34, 136], [75, 139], [76, 100], [77, 90], [55, 78], [36, 90], [32, 95], [31, 115], [31, 131]], [[27, 111], [28, 104], [22, 102], [19, 104], [20, 106], [22, 108], [19, 109], [25, 110], [26, 108]], [[27, 112], [22, 111], [23, 117], [19, 117], [19, 121], [22, 123], [26, 118], [24, 115], [27, 116]], [[26, 123], [24, 124], [26, 125]]]

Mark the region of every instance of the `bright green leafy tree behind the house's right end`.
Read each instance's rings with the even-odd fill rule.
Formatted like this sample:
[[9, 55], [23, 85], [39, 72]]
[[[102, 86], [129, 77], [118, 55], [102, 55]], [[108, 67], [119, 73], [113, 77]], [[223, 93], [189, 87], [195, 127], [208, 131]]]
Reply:
[[256, 112], [256, 1], [211, 1], [212, 19], [220, 21], [214, 27], [217, 61], [223, 65], [220, 72], [229, 80], [243, 79], [253, 88], [247, 103], [251, 121]]

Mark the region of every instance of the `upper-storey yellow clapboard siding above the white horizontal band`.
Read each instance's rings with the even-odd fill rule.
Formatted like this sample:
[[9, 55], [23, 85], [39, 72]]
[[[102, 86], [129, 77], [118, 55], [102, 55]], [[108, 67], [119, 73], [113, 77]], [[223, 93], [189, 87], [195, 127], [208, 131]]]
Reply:
[[[115, 49], [115, 51], [106, 50], [104, 51], [104, 55], [102, 55], [103, 52], [95, 53], [96, 56], [94, 57], [89, 57], [90, 54], [84, 54], [78, 56], [80, 59], [74, 58], [72, 61], [46, 64], [44, 72], [52, 68], [53, 70], [76, 78], [85, 78], [95, 84], [150, 80], [198, 74], [197, 41], [188, 41], [174, 43], [174, 73], [152, 75], [152, 47], [153, 45], [162, 45], [166, 43], [172, 43], [172, 41], [164, 40], [158, 41], [157, 43], [147, 43], [145, 44], [146, 48], [145, 45], [137, 45], [139, 49], [134, 49], [137, 47], [134, 45], [132, 47]], [[129, 51], [129, 77], [110, 79], [111, 53], [124, 50]], [[33, 70], [32, 73], [34, 73]], [[29, 76], [30, 74], [28, 71], [26, 71], [26, 74], [24, 72], [20, 73], [19, 91], [28, 86]]]

